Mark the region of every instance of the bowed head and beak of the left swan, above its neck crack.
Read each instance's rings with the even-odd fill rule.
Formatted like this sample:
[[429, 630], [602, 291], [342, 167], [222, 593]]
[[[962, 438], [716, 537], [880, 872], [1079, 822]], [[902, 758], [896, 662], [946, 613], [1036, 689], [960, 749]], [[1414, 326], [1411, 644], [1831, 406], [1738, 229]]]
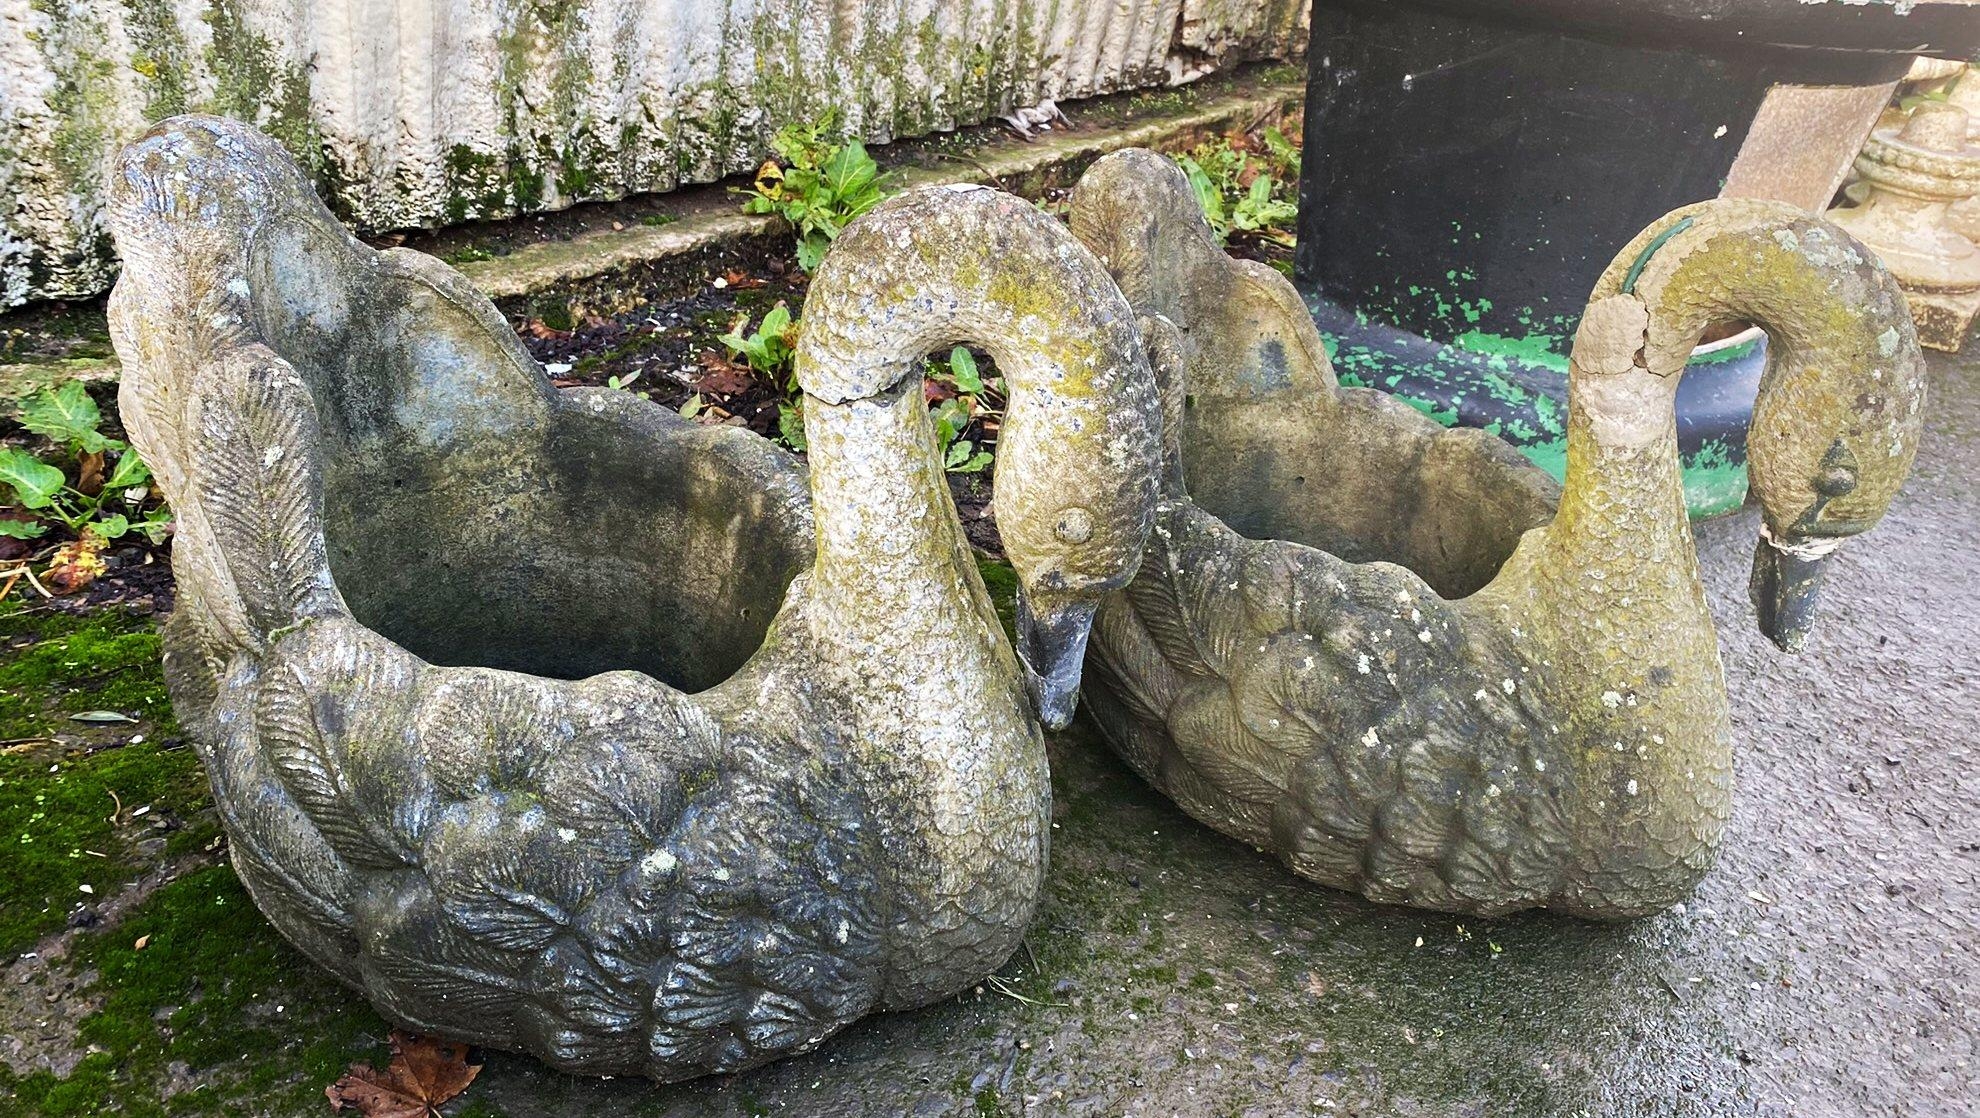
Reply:
[[873, 398], [956, 342], [1004, 374], [994, 511], [1018, 659], [1038, 718], [1063, 728], [1093, 613], [1154, 526], [1154, 374], [1099, 257], [1038, 206], [958, 184], [905, 190], [840, 233], [806, 297], [798, 380], [826, 404]]

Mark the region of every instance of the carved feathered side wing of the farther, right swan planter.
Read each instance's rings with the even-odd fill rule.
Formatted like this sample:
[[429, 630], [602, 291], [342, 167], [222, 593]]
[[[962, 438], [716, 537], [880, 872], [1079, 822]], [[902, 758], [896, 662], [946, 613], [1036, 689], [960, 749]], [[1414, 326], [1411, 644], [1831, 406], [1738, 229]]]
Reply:
[[[1566, 774], [1513, 657], [1414, 574], [1243, 540], [1194, 507], [1103, 607], [1099, 722], [1156, 788], [1299, 873], [1378, 900], [1552, 892]], [[1493, 667], [1503, 663], [1507, 667]]]

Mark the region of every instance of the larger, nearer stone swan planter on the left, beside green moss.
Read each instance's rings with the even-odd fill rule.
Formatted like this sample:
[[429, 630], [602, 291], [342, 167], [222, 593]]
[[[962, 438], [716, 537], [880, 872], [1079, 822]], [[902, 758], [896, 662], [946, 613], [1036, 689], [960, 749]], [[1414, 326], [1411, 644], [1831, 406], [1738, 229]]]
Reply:
[[[309, 958], [400, 1025], [683, 1078], [1018, 946], [1049, 809], [1026, 685], [1069, 718], [1158, 461], [1131, 309], [1063, 228], [980, 188], [849, 228], [804, 317], [806, 479], [552, 390], [451, 269], [354, 241], [242, 125], [131, 144], [111, 224], [123, 416], [180, 524], [174, 706]], [[954, 340], [1012, 384], [1024, 665], [921, 398]]]

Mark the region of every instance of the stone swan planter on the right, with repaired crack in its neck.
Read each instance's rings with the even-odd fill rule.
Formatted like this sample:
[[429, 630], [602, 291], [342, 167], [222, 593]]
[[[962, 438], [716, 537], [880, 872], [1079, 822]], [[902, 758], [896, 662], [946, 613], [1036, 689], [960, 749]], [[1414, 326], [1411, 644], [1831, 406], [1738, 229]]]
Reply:
[[1204, 823], [1374, 900], [1618, 918], [1683, 898], [1732, 742], [1675, 382], [1715, 321], [1774, 342], [1752, 596], [1794, 647], [1822, 558], [1877, 522], [1919, 443], [1925, 366], [1875, 257], [1772, 202], [1635, 237], [1582, 319], [1556, 512], [1483, 431], [1336, 388], [1291, 285], [1218, 251], [1162, 156], [1097, 162], [1073, 230], [1172, 323], [1150, 334], [1164, 501], [1089, 649], [1113, 748]]

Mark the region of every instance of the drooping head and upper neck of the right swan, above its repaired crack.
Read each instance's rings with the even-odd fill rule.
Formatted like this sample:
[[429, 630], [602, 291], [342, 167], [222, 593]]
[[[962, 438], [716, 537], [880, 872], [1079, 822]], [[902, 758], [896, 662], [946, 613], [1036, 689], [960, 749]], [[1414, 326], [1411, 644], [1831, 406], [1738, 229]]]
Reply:
[[1786, 202], [1715, 200], [1643, 230], [1596, 285], [1645, 311], [1635, 362], [1675, 388], [1699, 334], [1768, 334], [1746, 433], [1760, 505], [1750, 596], [1760, 631], [1796, 651], [1828, 558], [1883, 518], [1911, 473], [1925, 358], [1905, 293], [1849, 233]]

